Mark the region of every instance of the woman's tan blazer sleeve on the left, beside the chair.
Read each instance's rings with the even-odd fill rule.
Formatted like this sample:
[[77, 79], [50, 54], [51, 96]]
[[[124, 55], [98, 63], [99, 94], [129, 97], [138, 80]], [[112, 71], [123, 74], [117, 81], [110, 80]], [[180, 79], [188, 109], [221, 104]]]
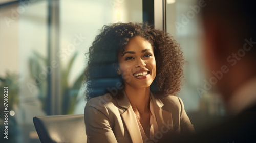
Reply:
[[88, 142], [117, 142], [112, 131], [112, 123], [108, 117], [108, 110], [100, 104], [87, 102], [84, 108], [84, 123]]

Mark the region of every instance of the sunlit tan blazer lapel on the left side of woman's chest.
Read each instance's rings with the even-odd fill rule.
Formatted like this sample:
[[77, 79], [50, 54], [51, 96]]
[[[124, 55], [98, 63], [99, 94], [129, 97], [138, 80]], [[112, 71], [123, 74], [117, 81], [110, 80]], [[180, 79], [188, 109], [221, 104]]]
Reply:
[[123, 113], [121, 113], [121, 117], [127, 131], [130, 134], [132, 142], [143, 142], [136, 116], [125, 92], [122, 99], [117, 99], [117, 104], [118, 106], [126, 109]]

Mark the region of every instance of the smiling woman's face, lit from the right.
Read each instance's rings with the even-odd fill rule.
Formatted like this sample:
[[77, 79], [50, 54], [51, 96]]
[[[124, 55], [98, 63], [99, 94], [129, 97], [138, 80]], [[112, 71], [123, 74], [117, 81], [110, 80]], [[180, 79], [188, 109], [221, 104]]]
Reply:
[[118, 55], [125, 86], [146, 88], [156, 77], [156, 60], [151, 44], [140, 36], [130, 39]]

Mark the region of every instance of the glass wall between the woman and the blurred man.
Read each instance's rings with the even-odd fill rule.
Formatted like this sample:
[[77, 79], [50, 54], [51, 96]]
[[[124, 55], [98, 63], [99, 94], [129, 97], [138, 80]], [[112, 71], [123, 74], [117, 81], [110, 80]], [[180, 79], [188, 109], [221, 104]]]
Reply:
[[224, 115], [219, 96], [212, 92], [214, 89], [205, 88], [208, 78], [201, 54], [202, 27], [198, 15], [204, 6], [196, 0], [166, 0], [166, 31], [180, 43], [187, 61], [184, 67], [186, 82], [178, 96], [198, 131], [206, 124], [218, 122]]

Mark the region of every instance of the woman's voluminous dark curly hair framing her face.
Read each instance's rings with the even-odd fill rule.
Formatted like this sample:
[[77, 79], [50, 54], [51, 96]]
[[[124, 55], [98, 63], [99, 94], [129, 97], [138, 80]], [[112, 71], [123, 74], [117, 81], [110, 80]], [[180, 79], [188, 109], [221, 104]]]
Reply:
[[123, 78], [113, 68], [118, 64], [118, 53], [124, 51], [129, 40], [141, 36], [151, 43], [156, 59], [156, 78], [151, 91], [168, 96], [176, 95], [183, 83], [185, 59], [180, 44], [164, 31], [157, 30], [148, 23], [114, 23], [103, 26], [89, 48], [86, 69], [86, 99], [111, 93], [121, 98]]

